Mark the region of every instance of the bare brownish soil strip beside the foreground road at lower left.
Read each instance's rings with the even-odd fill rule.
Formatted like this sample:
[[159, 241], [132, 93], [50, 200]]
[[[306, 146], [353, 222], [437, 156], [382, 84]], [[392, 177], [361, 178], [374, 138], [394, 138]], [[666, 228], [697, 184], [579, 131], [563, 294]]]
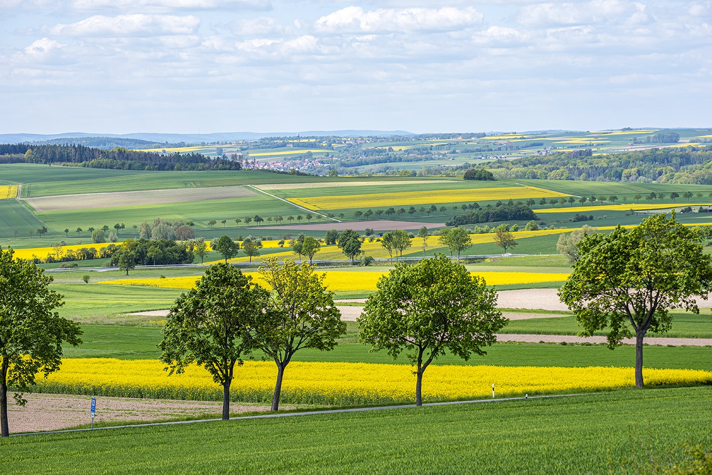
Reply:
[[[67, 429], [90, 424], [91, 396], [65, 394], [25, 394], [24, 407], [8, 398], [8, 425], [11, 434]], [[281, 409], [293, 409], [281, 405]], [[267, 404], [231, 403], [230, 412], [268, 411]], [[179, 417], [219, 417], [222, 402], [137, 399], [132, 397], [96, 398], [94, 423], [167, 420]]]

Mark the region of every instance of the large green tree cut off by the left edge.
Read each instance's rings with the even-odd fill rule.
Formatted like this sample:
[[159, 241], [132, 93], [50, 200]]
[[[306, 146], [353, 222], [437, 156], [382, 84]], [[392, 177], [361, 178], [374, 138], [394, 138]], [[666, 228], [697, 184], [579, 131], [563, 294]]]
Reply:
[[77, 346], [81, 330], [55, 309], [62, 295], [49, 289], [52, 277], [28, 260], [15, 260], [13, 250], [0, 247], [0, 434], [9, 435], [8, 386], [16, 388], [15, 400], [24, 405], [22, 393], [59, 369], [62, 343]]

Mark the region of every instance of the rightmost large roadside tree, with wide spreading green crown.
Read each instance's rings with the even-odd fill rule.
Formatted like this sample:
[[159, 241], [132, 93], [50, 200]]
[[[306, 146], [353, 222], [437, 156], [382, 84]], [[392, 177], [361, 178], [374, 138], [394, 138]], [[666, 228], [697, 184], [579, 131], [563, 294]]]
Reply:
[[674, 214], [588, 235], [578, 251], [559, 297], [576, 314], [582, 336], [605, 329], [611, 349], [635, 336], [635, 385], [642, 388], [645, 334], [669, 331], [671, 308], [699, 313], [695, 297], [706, 299], [712, 289], [712, 259]]

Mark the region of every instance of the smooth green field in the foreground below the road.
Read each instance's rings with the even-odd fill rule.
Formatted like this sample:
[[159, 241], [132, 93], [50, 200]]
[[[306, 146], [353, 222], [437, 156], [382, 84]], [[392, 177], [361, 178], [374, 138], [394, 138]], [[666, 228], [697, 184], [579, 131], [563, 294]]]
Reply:
[[275, 419], [133, 427], [0, 440], [8, 474], [631, 473], [682, 444], [712, 444], [712, 388]]

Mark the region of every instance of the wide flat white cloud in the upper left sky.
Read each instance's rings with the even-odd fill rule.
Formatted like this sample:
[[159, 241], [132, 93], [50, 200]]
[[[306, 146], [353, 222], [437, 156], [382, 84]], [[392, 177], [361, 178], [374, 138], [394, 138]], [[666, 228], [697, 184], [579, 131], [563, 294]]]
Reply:
[[171, 15], [95, 15], [77, 23], [59, 24], [47, 31], [53, 35], [66, 36], [162, 36], [189, 35], [200, 24], [197, 16]]

